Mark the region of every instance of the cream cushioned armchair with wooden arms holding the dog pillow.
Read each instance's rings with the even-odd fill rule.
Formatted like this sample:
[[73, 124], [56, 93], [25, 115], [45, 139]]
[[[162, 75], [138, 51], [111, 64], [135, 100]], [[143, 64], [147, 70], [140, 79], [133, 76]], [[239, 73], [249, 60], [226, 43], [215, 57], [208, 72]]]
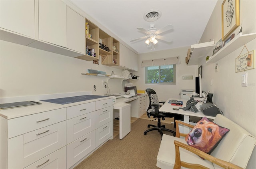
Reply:
[[161, 169], [246, 168], [256, 145], [256, 138], [230, 119], [220, 114], [214, 119], [214, 123], [226, 127], [230, 131], [210, 155], [189, 146], [184, 139], [187, 134], [179, 132], [178, 124], [191, 128], [194, 127], [193, 125], [177, 120], [175, 122], [176, 137], [163, 135], [157, 156], [157, 167]]

